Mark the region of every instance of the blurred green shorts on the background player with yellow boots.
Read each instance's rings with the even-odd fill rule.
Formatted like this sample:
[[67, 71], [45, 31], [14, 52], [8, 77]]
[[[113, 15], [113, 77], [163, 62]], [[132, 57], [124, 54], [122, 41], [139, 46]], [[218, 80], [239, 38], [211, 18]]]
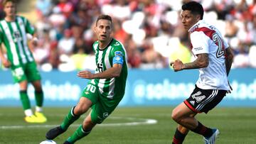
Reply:
[[14, 82], [22, 82], [24, 80], [33, 82], [41, 79], [40, 73], [36, 67], [36, 62], [28, 62], [24, 65], [12, 66], [11, 74], [13, 75]]

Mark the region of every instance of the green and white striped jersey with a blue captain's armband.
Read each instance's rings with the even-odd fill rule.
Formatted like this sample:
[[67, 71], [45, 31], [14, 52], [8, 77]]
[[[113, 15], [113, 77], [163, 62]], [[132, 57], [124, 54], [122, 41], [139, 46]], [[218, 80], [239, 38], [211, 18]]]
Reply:
[[[104, 50], [99, 49], [99, 42], [96, 41], [93, 45], [95, 51], [95, 59], [97, 69], [95, 73], [103, 72], [113, 65], [113, 61], [122, 61], [122, 72], [119, 77], [112, 77], [110, 79], [92, 79], [99, 88], [100, 94], [112, 99], [113, 96], [124, 96], [125, 85], [127, 81], [127, 54], [124, 45], [112, 38], [109, 45]], [[116, 58], [115, 56], [118, 57]], [[121, 56], [121, 57], [120, 57]], [[115, 60], [114, 60], [115, 57]], [[119, 62], [117, 62], [119, 63]]]

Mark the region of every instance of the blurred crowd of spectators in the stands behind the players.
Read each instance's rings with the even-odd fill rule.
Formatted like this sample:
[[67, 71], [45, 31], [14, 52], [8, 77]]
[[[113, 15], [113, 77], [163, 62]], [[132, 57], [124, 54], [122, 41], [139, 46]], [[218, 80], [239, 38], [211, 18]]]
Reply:
[[[204, 21], [223, 34], [235, 58], [233, 68], [256, 67], [256, 0], [196, 0]], [[194, 60], [181, 24], [182, 0], [36, 0], [38, 46], [33, 49], [44, 71], [95, 70], [94, 22], [112, 16], [113, 37], [127, 50], [130, 68], [162, 69], [177, 58]], [[2, 13], [1, 13], [1, 16]], [[29, 19], [29, 18], [28, 18]]]

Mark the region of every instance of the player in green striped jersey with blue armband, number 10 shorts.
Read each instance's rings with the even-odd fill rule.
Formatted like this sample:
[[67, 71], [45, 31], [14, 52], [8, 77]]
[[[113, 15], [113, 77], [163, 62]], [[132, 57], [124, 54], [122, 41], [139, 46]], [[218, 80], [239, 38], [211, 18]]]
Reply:
[[83, 90], [77, 106], [69, 111], [63, 123], [46, 133], [46, 138], [49, 140], [67, 131], [70, 124], [91, 108], [82, 125], [65, 141], [66, 144], [75, 143], [88, 135], [97, 123], [102, 123], [107, 116], [110, 116], [124, 96], [127, 55], [122, 43], [111, 36], [112, 18], [107, 15], [99, 16], [94, 31], [98, 39], [92, 45], [97, 69], [95, 73], [87, 70], [78, 72], [78, 77], [91, 80]]

